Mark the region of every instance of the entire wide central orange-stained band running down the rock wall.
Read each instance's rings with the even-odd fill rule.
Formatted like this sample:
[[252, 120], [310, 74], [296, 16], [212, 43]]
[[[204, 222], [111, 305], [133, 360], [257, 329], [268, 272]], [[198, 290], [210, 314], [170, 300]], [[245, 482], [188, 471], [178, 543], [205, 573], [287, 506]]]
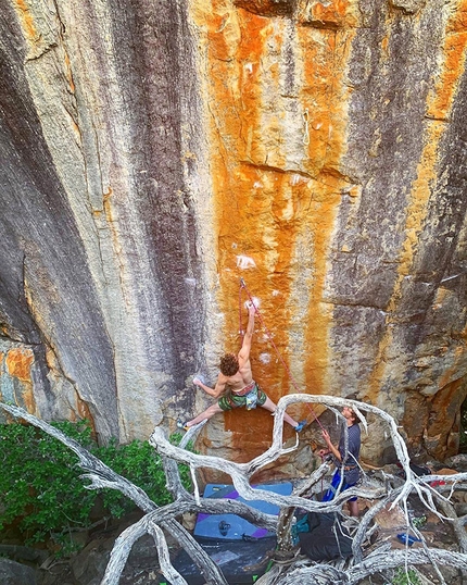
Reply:
[[[239, 281], [243, 277], [260, 300], [265, 325], [287, 366], [296, 370], [292, 375], [300, 388], [320, 393], [327, 390], [332, 311], [323, 301], [326, 263], [341, 189], [349, 187], [339, 169], [351, 91], [344, 73], [355, 32], [299, 25], [291, 32], [287, 18], [258, 16], [227, 0], [210, 4], [194, 1], [190, 10], [200, 32], [199, 46], [204, 49], [201, 66], [218, 222], [224, 349], [238, 351], [242, 343], [238, 332]], [[343, 22], [349, 5], [333, 2], [335, 17]], [[295, 104], [298, 114], [291, 108]], [[302, 133], [298, 141], [290, 140], [289, 120]], [[296, 249], [298, 240], [306, 238], [312, 239], [312, 259], [301, 258]], [[302, 261], [311, 265], [313, 278], [306, 296], [298, 299], [293, 287]], [[247, 300], [242, 291], [242, 328]], [[304, 346], [299, 357], [290, 349], [294, 327]], [[258, 319], [255, 329], [254, 378], [277, 402], [296, 390]], [[306, 407], [290, 408], [290, 414], [313, 420]], [[248, 445], [247, 459], [255, 455], [254, 445], [262, 451], [257, 437], [267, 440], [272, 416], [262, 409], [224, 416], [226, 427], [239, 432], [234, 433], [232, 449], [238, 436], [239, 452]], [[292, 433], [287, 424], [285, 428]]]

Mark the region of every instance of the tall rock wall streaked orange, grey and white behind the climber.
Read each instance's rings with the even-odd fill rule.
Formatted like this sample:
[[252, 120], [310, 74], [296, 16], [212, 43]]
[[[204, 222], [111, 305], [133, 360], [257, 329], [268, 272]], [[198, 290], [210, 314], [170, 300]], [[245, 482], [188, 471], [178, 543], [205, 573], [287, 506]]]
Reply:
[[[239, 347], [243, 277], [294, 381], [258, 326], [274, 400], [356, 394], [453, 452], [466, 7], [1, 0], [2, 398], [103, 439], [174, 430]], [[270, 428], [229, 413], [204, 446], [250, 458]]]

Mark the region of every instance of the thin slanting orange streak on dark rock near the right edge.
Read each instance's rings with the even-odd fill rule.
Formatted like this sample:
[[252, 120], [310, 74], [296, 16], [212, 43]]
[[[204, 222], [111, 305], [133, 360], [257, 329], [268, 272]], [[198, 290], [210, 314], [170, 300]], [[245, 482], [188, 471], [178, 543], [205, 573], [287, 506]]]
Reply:
[[[393, 295], [388, 307], [390, 315], [387, 321], [389, 325], [394, 319], [391, 314], [396, 312], [401, 299], [403, 279], [411, 274], [414, 256], [418, 246], [418, 235], [422, 231], [428, 201], [438, 178], [438, 147], [445, 129], [445, 123], [443, 121], [450, 117], [455, 91], [465, 71], [467, 34], [459, 32], [459, 27], [466, 22], [466, 15], [467, 0], [459, 0], [457, 5], [452, 8], [450, 18], [446, 23], [446, 36], [442, 49], [444, 62], [439, 71], [434, 91], [428, 97], [427, 112], [434, 120], [427, 126], [425, 148], [418, 164], [418, 175], [413, 184], [407, 206], [406, 239], [403, 244], [400, 258], [399, 278], [394, 285]], [[380, 341], [379, 354], [376, 359], [377, 366], [368, 385], [367, 399], [374, 403], [378, 402], [381, 381], [386, 374], [384, 354], [390, 348], [391, 341], [392, 332], [391, 328], [388, 328], [386, 336]]]

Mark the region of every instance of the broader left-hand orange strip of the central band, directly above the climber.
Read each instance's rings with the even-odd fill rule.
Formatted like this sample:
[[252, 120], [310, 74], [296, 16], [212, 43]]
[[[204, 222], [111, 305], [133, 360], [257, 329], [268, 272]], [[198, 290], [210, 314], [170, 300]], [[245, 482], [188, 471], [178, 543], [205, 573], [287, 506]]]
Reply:
[[[244, 277], [251, 294], [260, 298], [265, 324], [282, 350], [287, 335], [281, 320], [289, 289], [285, 267], [290, 262], [289, 238], [293, 225], [290, 226], [292, 234], [287, 232], [288, 238], [283, 234], [281, 240], [278, 234], [280, 226], [289, 226], [283, 207], [293, 207], [293, 196], [287, 173], [268, 167], [264, 160], [261, 124], [262, 76], [265, 74], [262, 63], [267, 61], [268, 39], [278, 42], [282, 24], [275, 29], [273, 20], [237, 10], [222, 1], [213, 2], [211, 10], [205, 7], [203, 17], [201, 11], [197, 17], [207, 37], [211, 164], [222, 289], [218, 302], [225, 315], [225, 350], [238, 351], [242, 343], [238, 335], [240, 276]], [[273, 64], [266, 75], [269, 80], [277, 79], [277, 67]], [[275, 289], [280, 290], [280, 297], [273, 295]], [[243, 291], [242, 304], [247, 300]], [[242, 306], [243, 328], [245, 324], [247, 311]], [[269, 356], [269, 363], [264, 363], [263, 353]], [[283, 373], [275, 361], [274, 349], [256, 320], [252, 352], [254, 377], [277, 401], [282, 394]], [[265, 436], [273, 419], [265, 411], [251, 412], [248, 416], [238, 416], [235, 412], [225, 415], [225, 424], [243, 435]], [[248, 441], [248, 437], [243, 436], [243, 439]], [[251, 455], [249, 449], [247, 457]]]

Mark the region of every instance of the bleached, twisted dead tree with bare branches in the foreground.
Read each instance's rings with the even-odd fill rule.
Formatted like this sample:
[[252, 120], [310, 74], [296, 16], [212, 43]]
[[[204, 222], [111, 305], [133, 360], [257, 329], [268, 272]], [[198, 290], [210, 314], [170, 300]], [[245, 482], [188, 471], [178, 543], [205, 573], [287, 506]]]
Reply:
[[[269, 465], [279, 457], [289, 455], [296, 449], [298, 438], [294, 446], [288, 448], [282, 446], [282, 426], [286, 408], [298, 402], [324, 404], [335, 411], [337, 416], [340, 416], [338, 409], [349, 406], [357, 412], [364, 427], [366, 427], [364, 413], [371, 413], [380, 418], [387, 424], [388, 432], [391, 435], [395, 452], [404, 471], [404, 480], [397, 478], [395, 481], [393, 476], [381, 472], [378, 480], [365, 481], [361, 485], [340, 494], [332, 501], [321, 502], [317, 499], [311, 499], [311, 497], [319, 490], [318, 484], [329, 471], [329, 464], [325, 462], [310, 477], [298, 482], [291, 496], [281, 496], [257, 488], [253, 489], [250, 481], [254, 473]], [[186, 445], [189, 440], [195, 438], [204, 423], [190, 428], [178, 447], [168, 441], [162, 428], [156, 427], [150, 437], [150, 444], [162, 457], [167, 480], [166, 487], [174, 498], [173, 503], [161, 508], [142, 489], [113, 472], [59, 430], [28, 414], [18, 407], [3, 403], [0, 403], [0, 407], [11, 415], [24, 419], [43, 430], [74, 451], [78, 457], [78, 465], [85, 472], [81, 477], [90, 481], [89, 485], [86, 486], [88, 489], [117, 489], [129, 497], [144, 512], [146, 515], [139, 522], [124, 531], [116, 539], [101, 582], [102, 585], [118, 584], [134, 543], [144, 534], [150, 534], [154, 539], [154, 555], [164, 576], [174, 585], [185, 585], [186, 580], [174, 569], [171, 562], [164, 531], [169, 533], [190, 555], [207, 584], [227, 584], [218, 567], [177, 521], [177, 518], [180, 518], [182, 513], [202, 511], [204, 513], [228, 512], [240, 515], [257, 526], [276, 532], [278, 535], [278, 552], [283, 552], [287, 558], [287, 555], [294, 547], [291, 532], [295, 508], [301, 508], [312, 513], [337, 512], [343, 515], [342, 506], [352, 496], [365, 498], [373, 502], [373, 506], [359, 520], [358, 527], [353, 536], [353, 557], [345, 563], [344, 568], [329, 563], [316, 563], [295, 556], [290, 563], [273, 564], [272, 570], [265, 573], [257, 583], [260, 585], [287, 585], [292, 582], [295, 583], [299, 578], [305, 580], [307, 584], [312, 585], [329, 585], [339, 582], [357, 584], [368, 575], [395, 567], [405, 567], [407, 570], [409, 565], [428, 563], [434, 567], [440, 583], [445, 583], [440, 567], [445, 564], [467, 571], [467, 538], [464, 528], [467, 521], [465, 518], [457, 518], [451, 503], [452, 496], [456, 489], [467, 488], [467, 474], [430, 475], [425, 477], [415, 475], [411, 469], [409, 456], [405, 443], [397, 432], [395, 421], [388, 413], [370, 404], [331, 396], [290, 395], [283, 397], [279, 400], [275, 414], [270, 447], [264, 453], [247, 463], [235, 463], [218, 457], [187, 451]], [[193, 494], [182, 487], [178, 473], [178, 463], [189, 465], [194, 486]], [[201, 468], [222, 470], [227, 473], [231, 477], [235, 488], [244, 500], [262, 499], [270, 502], [281, 510], [279, 518], [260, 512], [239, 501], [202, 498], [197, 482], [197, 470]], [[442, 488], [434, 489], [430, 483], [440, 480], [444, 482]], [[396, 485], [397, 483], [399, 485]], [[422, 533], [411, 521], [407, 510], [407, 498], [411, 494], [416, 494], [427, 510], [430, 510], [438, 518], [453, 523], [454, 532], [458, 538], [459, 552], [428, 546]], [[390, 550], [390, 545], [383, 544], [365, 557], [362, 551], [362, 545], [373, 530], [371, 524], [375, 515], [383, 508], [394, 508], [396, 506], [405, 511], [406, 527], [420, 538], [422, 548], [412, 550], [407, 547], [405, 550]]]

